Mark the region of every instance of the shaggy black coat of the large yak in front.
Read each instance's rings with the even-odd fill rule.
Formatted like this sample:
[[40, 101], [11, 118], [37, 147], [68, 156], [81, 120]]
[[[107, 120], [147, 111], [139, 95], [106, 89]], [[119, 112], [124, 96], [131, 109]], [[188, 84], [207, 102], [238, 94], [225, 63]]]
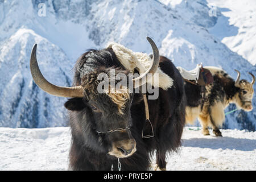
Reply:
[[[92, 93], [93, 97], [72, 98], [65, 103], [65, 107], [70, 110], [72, 131], [70, 169], [110, 170], [113, 164], [114, 170], [117, 170], [117, 158], [108, 154], [108, 148], [112, 142], [110, 135], [119, 135], [119, 132], [109, 135], [99, 135], [96, 132], [106, 130], [105, 126], [109, 126], [109, 123], [113, 128], [130, 123], [129, 132], [137, 143], [137, 151], [133, 155], [120, 159], [122, 170], [147, 170], [150, 167], [150, 154], [155, 150], [158, 166], [166, 168], [166, 152], [176, 151], [180, 146], [185, 124], [185, 94], [183, 78], [174, 64], [161, 56], [159, 66], [174, 80], [174, 86], [168, 90], [160, 89], [157, 100], [148, 100], [150, 120], [155, 131], [153, 138], [142, 139], [142, 128], [146, 119], [142, 94], [131, 94], [123, 116], [113, 114], [115, 108], [104, 94]], [[73, 85], [82, 85], [83, 79], [89, 73], [110, 67], [123, 69], [112, 49], [90, 50], [84, 53], [75, 65]], [[94, 99], [95, 97], [97, 99]], [[101, 102], [97, 102], [98, 99], [101, 99]], [[100, 118], [91, 105], [97, 103], [97, 107], [106, 104], [104, 114]], [[112, 119], [109, 119], [110, 115]]]

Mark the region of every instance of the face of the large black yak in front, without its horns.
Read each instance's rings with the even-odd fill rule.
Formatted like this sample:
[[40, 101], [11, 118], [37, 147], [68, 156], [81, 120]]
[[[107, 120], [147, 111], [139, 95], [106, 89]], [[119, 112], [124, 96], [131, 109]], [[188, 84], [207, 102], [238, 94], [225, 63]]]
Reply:
[[[131, 135], [131, 103], [133, 92], [127, 86], [116, 86], [117, 79], [110, 79], [110, 72], [114, 70], [117, 75], [128, 76], [127, 71], [118, 68], [98, 68], [81, 77], [81, 86], [84, 89], [82, 100], [73, 98], [65, 103], [65, 107], [72, 111], [81, 111], [86, 114], [85, 119], [77, 123], [80, 128], [94, 126], [98, 142], [105, 146], [106, 152], [117, 158], [125, 158], [134, 154], [136, 142]], [[105, 79], [99, 79], [104, 76]], [[102, 84], [104, 82], [104, 84]], [[112, 83], [114, 87], [112, 88]], [[78, 107], [77, 107], [78, 106]], [[82, 106], [82, 107], [80, 107]], [[87, 136], [87, 135], [86, 135]]]

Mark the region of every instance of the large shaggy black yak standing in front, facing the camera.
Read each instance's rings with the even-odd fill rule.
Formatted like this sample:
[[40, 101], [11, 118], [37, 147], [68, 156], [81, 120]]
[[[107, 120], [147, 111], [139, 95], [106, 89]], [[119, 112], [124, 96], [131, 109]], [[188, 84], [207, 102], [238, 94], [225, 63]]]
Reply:
[[[155, 43], [147, 39], [153, 49], [151, 57], [148, 56], [152, 64], [139, 77], [133, 78], [134, 84], [139, 81], [133, 90], [121, 86], [118, 90], [121, 92], [99, 93], [97, 90], [101, 73], [110, 76], [114, 69], [115, 75], [129, 75], [130, 65], [123, 62], [129, 62], [129, 58], [121, 60], [114, 46], [91, 49], [81, 55], [75, 65], [72, 87], [49, 83], [39, 70], [36, 46], [32, 49], [30, 67], [35, 83], [49, 94], [70, 97], [65, 103], [72, 132], [69, 169], [117, 170], [121, 163], [122, 170], [147, 170], [151, 167], [150, 155], [154, 151], [156, 164], [160, 169], [166, 169], [166, 152], [176, 151], [180, 146], [185, 124], [183, 78], [170, 60], [159, 56]], [[123, 55], [127, 56], [127, 52]], [[142, 68], [134, 70], [139, 71]], [[134, 90], [141, 88], [144, 77], [156, 72], [170, 78], [171, 85], [159, 88], [159, 97], [148, 100], [146, 107], [143, 94]], [[146, 92], [148, 96], [150, 94]], [[148, 108], [151, 125], [146, 121], [145, 108]], [[154, 137], [142, 137], [142, 133], [151, 134], [151, 129]]]

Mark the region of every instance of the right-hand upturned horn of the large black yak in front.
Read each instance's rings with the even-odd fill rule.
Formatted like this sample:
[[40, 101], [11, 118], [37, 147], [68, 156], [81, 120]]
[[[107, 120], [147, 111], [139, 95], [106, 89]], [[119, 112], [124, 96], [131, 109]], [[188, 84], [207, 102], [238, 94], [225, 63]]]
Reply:
[[[140, 75], [137, 78], [133, 78], [133, 83], [134, 83], [134, 88], [138, 88], [139, 86], [146, 84], [147, 79], [147, 73], [152, 73], [154, 74], [156, 72], [156, 70], [158, 69], [158, 65], [159, 65], [159, 60], [160, 60], [160, 56], [159, 56], [159, 51], [158, 51], [158, 47], [156, 47], [156, 44], [154, 43], [154, 41], [147, 37], [147, 41], [150, 43], [151, 47], [152, 47], [152, 51], [153, 51], [153, 57], [152, 57], [152, 64], [151, 67], [147, 69], [146, 72], [142, 73], [142, 75]], [[135, 83], [139, 80], [139, 84], [136, 85]]]

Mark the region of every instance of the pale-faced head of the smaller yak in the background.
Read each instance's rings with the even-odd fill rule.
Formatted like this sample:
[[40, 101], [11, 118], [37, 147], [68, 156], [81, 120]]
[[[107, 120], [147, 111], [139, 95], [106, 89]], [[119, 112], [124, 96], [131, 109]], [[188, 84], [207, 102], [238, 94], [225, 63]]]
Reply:
[[237, 72], [237, 79], [234, 86], [238, 88], [238, 93], [236, 94], [236, 105], [238, 108], [241, 108], [245, 111], [253, 110], [252, 100], [253, 100], [253, 84], [255, 82], [255, 77], [252, 73], [249, 73], [253, 80], [251, 82], [246, 80], [240, 80], [240, 72], [235, 69]]

